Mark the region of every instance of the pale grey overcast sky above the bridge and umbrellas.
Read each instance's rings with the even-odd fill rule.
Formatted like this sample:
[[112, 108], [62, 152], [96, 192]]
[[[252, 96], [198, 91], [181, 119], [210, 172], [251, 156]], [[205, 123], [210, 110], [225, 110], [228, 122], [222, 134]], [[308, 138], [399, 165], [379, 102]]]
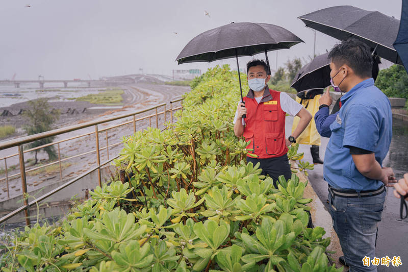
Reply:
[[[174, 61], [196, 35], [234, 22], [277, 24], [305, 43], [278, 51], [278, 66], [288, 59], [313, 55], [314, 32], [298, 16], [322, 8], [352, 5], [400, 18], [400, 0], [0, 0], [0, 79], [92, 79], [139, 73], [170, 75], [172, 69], [212, 63], [177, 65]], [[24, 7], [31, 5], [31, 7]], [[210, 16], [205, 14], [205, 11]], [[175, 34], [175, 33], [177, 34]], [[316, 53], [337, 40], [317, 33]], [[264, 55], [258, 55], [264, 57]], [[272, 68], [276, 53], [269, 52]], [[240, 66], [251, 57], [240, 58]]]

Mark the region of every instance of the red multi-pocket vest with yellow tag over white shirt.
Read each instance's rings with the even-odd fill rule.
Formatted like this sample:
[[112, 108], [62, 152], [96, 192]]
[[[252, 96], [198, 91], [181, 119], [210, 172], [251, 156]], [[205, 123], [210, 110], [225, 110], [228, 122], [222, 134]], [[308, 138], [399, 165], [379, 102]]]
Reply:
[[285, 142], [286, 113], [281, 108], [280, 94], [267, 86], [259, 104], [252, 90], [243, 98], [247, 113], [242, 136], [245, 141], [250, 141], [246, 148], [253, 149], [251, 153], [258, 155], [259, 159], [281, 157], [288, 153]]

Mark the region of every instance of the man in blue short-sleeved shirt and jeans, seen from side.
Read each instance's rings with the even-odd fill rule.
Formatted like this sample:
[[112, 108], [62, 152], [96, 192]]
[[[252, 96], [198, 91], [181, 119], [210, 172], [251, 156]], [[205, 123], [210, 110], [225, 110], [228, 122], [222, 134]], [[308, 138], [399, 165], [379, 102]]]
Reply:
[[346, 92], [330, 125], [323, 164], [330, 215], [350, 271], [376, 271], [363, 259], [375, 257], [385, 186], [395, 182], [393, 170], [382, 167], [392, 137], [391, 105], [374, 86], [368, 45], [348, 39], [333, 47], [328, 58], [331, 84]]

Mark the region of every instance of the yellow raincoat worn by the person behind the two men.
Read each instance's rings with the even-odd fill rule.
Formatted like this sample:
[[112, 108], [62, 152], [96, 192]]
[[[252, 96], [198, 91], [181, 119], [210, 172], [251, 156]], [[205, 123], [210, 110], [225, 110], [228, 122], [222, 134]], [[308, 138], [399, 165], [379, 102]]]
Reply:
[[[313, 99], [303, 99], [302, 106], [307, 109], [310, 114], [312, 114], [312, 120], [310, 121], [309, 125], [304, 129], [304, 131], [299, 135], [296, 139], [297, 143], [301, 144], [315, 144], [320, 145], [320, 135], [316, 129], [315, 123], [315, 114], [319, 110], [319, 98], [320, 94], [316, 95]], [[296, 102], [300, 103], [301, 98], [296, 96]], [[295, 116], [293, 118], [293, 125], [292, 125], [292, 132], [295, 130], [297, 124], [299, 123], [300, 118]]]

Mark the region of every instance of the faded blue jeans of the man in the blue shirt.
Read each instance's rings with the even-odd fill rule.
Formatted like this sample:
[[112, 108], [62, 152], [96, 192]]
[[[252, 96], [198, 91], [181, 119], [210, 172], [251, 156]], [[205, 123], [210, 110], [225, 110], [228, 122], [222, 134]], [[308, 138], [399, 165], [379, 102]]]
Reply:
[[[374, 196], [340, 197], [328, 194], [333, 227], [340, 240], [344, 259], [354, 271], [377, 271], [371, 264], [375, 257], [377, 222], [381, 221], [387, 190]], [[363, 265], [363, 258], [370, 257], [370, 266]]]

